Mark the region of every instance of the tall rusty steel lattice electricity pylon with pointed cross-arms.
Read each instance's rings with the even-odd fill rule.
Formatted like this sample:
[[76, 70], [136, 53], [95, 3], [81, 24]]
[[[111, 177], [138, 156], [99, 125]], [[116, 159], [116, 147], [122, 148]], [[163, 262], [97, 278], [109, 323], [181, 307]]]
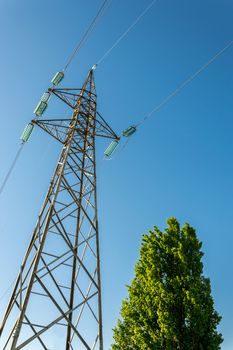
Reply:
[[93, 70], [81, 89], [49, 92], [72, 117], [32, 121], [62, 150], [2, 320], [1, 334], [12, 324], [3, 349], [103, 350], [95, 139], [118, 137], [96, 110]]

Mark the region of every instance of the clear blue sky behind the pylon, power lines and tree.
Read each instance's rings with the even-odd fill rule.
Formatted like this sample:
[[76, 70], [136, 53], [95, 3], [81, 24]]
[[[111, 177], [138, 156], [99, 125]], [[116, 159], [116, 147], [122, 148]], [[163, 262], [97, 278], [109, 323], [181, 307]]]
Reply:
[[[113, 0], [67, 71], [80, 87], [88, 69], [149, 4]], [[0, 180], [25, 124], [100, 0], [0, 1]], [[96, 70], [99, 112], [120, 133], [233, 39], [232, 0], [158, 0]], [[197, 229], [205, 274], [233, 349], [233, 47], [145, 123], [110, 162], [98, 144], [105, 349], [143, 233], [176, 216]], [[48, 116], [53, 116], [52, 109]], [[0, 197], [0, 295], [15, 278], [58, 154], [36, 130]], [[8, 293], [9, 295], [9, 293]], [[0, 310], [7, 302], [0, 300]], [[0, 343], [1, 344], [1, 343]]]

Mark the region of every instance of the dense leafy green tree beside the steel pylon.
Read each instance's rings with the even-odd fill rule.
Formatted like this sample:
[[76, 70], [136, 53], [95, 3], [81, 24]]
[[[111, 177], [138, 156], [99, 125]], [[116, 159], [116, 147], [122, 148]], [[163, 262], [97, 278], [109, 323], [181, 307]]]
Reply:
[[135, 277], [128, 286], [112, 350], [217, 350], [221, 317], [214, 309], [210, 280], [203, 276], [203, 252], [195, 230], [168, 228], [143, 235]]

